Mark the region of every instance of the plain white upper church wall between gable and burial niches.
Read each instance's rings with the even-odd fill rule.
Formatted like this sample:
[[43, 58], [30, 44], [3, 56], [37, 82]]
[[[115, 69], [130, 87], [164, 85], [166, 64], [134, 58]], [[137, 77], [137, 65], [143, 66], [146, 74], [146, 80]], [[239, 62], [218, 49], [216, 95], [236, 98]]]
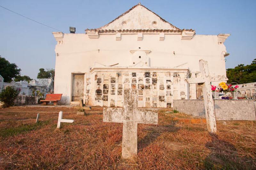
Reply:
[[204, 59], [209, 63], [212, 76], [226, 75], [222, 54], [226, 48], [218, 43], [217, 35], [194, 35], [191, 40], [181, 40], [181, 34], [165, 34], [164, 41], [159, 41], [159, 34], [143, 34], [142, 41], [137, 41], [137, 37], [138, 33], [122, 34], [121, 41], [116, 41], [115, 33], [99, 35], [98, 39], [90, 39], [88, 34], [64, 34], [62, 43], [55, 48], [54, 93], [62, 93], [62, 101], [69, 103], [71, 73], [88, 74], [94, 62], [130, 66], [133, 56], [130, 50], [150, 50], [147, 56], [151, 67], [187, 63], [190, 72], [199, 72], [199, 60]]

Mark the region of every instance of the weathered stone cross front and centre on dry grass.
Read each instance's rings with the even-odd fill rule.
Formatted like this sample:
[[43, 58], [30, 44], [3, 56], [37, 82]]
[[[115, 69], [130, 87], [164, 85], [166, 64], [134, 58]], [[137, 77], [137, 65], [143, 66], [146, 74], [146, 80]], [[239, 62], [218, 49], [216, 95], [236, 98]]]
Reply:
[[136, 89], [124, 89], [123, 108], [104, 108], [103, 122], [123, 123], [122, 157], [125, 159], [137, 155], [137, 124], [157, 124], [158, 112], [150, 109], [138, 109]]

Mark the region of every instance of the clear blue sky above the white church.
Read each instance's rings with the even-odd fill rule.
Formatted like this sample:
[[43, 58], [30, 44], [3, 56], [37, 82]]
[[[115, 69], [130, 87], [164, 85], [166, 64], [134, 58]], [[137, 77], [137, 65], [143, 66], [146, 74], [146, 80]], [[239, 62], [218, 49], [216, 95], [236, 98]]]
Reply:
[[[250, 64], [256, 58], [256, 1], [254, 0], [1, 0], [0, 5], [68, 33], [98, 28], [141, 2], [180, 29], [196, 34], [230, 33], [226, 68]], [[56, 41], [51, 28], [0, 8], [0, 55], [16, 63], [22, 75], [36, 78], [39, 68], [54, 68]]]

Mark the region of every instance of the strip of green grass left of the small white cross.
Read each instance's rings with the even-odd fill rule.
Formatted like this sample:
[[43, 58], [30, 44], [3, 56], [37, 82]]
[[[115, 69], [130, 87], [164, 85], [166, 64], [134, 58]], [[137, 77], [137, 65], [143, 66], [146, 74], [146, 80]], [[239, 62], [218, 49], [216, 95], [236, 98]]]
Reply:
[[10, 137], [14, 135], [18, 135], [20, 133], [26, 133], [31, 130], [36, 130], [40, 129], [44, 125], [47, 125], [49, 121], [44, 121], [44, 122], [38, 122], [38, 123], [33, 123], [33, 124], [24, 124], [18, 127], [11, 127], [11, 128], [4, 128], [0, 129], [0, 137]]

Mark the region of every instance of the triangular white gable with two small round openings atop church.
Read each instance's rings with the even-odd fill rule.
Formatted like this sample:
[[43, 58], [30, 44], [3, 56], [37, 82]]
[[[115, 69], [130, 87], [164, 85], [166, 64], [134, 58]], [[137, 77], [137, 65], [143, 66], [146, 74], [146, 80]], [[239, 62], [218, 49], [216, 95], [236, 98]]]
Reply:
[[100, 30], [180, 30], [173, 26], [156, 13], [150, 11], [145, 6], [133, 6], [130, 10], [111, 21], [105, 26], [98, 28]]

